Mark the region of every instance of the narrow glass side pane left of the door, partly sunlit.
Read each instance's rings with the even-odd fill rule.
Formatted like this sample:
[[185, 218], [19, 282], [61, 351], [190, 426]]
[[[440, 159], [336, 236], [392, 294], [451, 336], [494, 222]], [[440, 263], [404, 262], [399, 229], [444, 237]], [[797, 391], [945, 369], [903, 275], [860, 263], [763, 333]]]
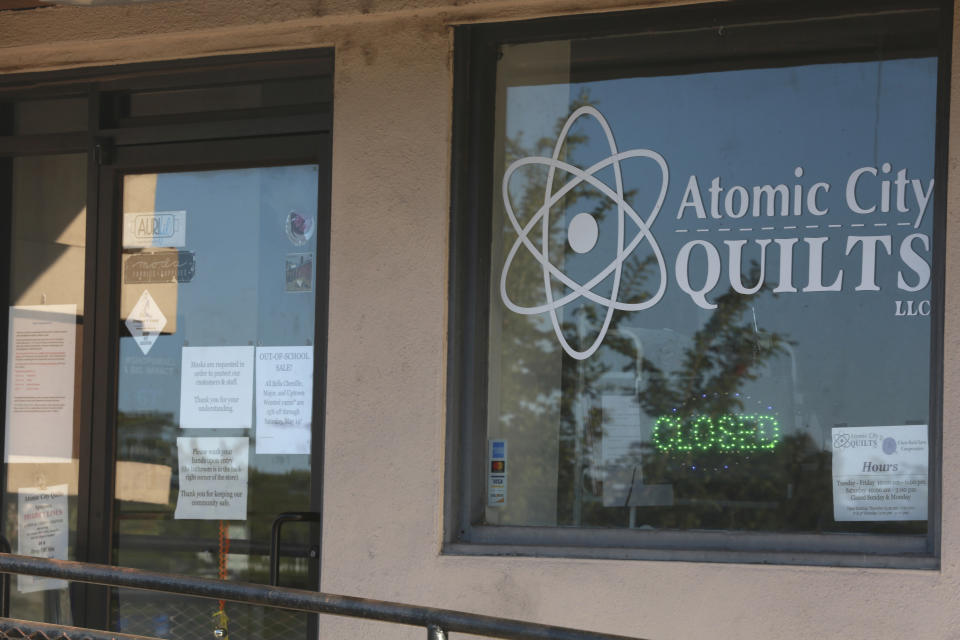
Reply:
[[[63, 560], [79, 556], [87, 435], [87, 169], [84, 153], [0, 158], [0, 211], [10, 207], [2, 534], [14, 553]], [[14, 576], [10, 604], [15, 617], [73, 622], [62, 580]]]

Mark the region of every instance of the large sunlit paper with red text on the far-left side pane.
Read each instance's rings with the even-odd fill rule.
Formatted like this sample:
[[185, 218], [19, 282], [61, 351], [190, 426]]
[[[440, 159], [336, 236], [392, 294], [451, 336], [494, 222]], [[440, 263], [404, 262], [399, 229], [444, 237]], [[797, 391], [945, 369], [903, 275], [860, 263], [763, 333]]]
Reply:
[[7, 462], [73, 457], [77, 305], [10, 307]]

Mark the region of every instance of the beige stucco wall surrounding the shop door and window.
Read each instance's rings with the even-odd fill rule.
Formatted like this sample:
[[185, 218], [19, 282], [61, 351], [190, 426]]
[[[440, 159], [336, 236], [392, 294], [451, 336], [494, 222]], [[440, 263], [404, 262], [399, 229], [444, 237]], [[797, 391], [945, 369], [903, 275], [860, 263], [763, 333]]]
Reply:
[[[641, 637], [960, 638], [960, 225], [939, 571], [440, 554], [451, 31], [625, 0], [183, 0], [0, 13], [0, 73], [336, 48], [325, 591]], [[645, 3], [651, 4], [651, 3]], [[960, 56], [957, 56], [960, 57]], [[953, 131], [960, 131], [960, 78]], [[951, 212], [960, 206], [951, 145]], [[951, 221], [952, 222], [952, 221]], [[326, 638], [424, 631], [325, 619]]]

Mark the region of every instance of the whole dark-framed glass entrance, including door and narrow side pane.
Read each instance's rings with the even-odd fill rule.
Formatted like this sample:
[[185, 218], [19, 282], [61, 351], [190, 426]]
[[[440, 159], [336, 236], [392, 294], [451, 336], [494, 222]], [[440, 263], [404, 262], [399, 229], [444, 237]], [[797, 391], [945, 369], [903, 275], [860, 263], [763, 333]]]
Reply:
[[[317, 588], [332, 74], [309, 49], [0, 87], [0, 549], [266, 583], [284, 521], [277, 583]], [[12, 587], [37, 621], [316, 637], [276, 610]]]

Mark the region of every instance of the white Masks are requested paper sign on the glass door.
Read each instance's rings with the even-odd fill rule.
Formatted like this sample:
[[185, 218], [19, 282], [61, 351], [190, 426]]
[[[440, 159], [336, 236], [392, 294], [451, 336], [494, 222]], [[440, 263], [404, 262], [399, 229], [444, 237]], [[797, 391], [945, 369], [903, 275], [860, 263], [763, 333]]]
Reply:
[[253, 347], [184, 347], [180, 427], [249, 429], [253, 423]]

